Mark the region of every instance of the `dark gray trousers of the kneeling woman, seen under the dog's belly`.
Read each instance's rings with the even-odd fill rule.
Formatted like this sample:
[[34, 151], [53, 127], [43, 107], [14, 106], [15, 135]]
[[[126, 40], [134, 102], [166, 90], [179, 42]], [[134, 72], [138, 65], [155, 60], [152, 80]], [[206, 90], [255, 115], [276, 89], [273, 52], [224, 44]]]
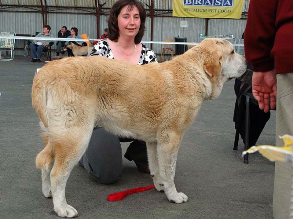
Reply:
[[[146, 143], [133, 139], [121, 139], [131, 142], [125, 157], [136, 165], [148, 166]], [[89, 145], [80, 160], [86, 171], [96, 181], [103, 184], [115, 183], [122, 173], [122, 150], [119, 137], [109, 133], [104, 128], [93, 130]]]

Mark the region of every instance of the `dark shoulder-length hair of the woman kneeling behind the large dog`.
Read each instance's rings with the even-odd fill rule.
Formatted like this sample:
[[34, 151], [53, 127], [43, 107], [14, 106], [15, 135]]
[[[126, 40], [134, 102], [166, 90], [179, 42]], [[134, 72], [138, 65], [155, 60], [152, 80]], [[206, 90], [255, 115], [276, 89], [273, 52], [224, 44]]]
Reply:
[[137, 1], [137, 0], [119, 0], [115, 2], [109, 12], [109, 19], [108, 19], [108, 27], [109, 27], [109, 33], [108, 37], [109, 39], [113, 40], [114, 42], [117, 42], [119, 37], [119, 27], [118, 27], [118, 15], [121, 12], [121, 9], [125, 6], [127, 7], [127, 10], [132, 10], [134, 7], [138, 8], [139, 11], [139, 17], [141, 20], [141, 25], [139, 27], [139, 31], [137, 35], [134, 38], [135, 44], [138, 44], [142, 41], [142, 38], [145, 33], [145, 23], [146, 23], [146, 10], [144, 8], [144, 5]]

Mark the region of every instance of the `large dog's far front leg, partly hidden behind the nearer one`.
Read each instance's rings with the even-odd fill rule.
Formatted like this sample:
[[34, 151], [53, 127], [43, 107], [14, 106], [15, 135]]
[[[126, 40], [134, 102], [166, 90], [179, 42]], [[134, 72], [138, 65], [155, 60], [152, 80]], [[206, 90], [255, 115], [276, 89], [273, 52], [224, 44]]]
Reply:
[[163, 178], [159, 171], [159, 162], [157, 155], [157, 142], [146, 142], [148, 166], [150, 176], [153, 178], [154, 185], [159, 192], [164, 192]]

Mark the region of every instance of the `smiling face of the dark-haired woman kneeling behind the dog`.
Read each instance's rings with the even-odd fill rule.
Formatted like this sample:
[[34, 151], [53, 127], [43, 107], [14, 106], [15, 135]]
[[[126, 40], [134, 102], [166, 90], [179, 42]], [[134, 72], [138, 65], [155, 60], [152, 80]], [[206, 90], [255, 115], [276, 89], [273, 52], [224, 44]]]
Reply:
[[137, 7], [133, 7], [131, 11], [127, 9], [128, 6], [124, 6], [118, 15], [119, 36], [135, 37], [141, 24], [139, 11]]

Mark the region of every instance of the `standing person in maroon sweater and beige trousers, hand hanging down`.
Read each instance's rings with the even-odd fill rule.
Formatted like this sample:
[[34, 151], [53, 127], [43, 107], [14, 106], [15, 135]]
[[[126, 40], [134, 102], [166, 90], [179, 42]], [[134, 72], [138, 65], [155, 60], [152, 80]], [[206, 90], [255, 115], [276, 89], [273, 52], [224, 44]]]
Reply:
[[[276, 146], [283, 146], [279, 135], [293, 135], [293, 1], [251, 0], [244, 45], [253, 96], [265, 112], [277, 107]], [[275, 163], [274, 219], [289, 219], [291, 177], [291, 163]]]

